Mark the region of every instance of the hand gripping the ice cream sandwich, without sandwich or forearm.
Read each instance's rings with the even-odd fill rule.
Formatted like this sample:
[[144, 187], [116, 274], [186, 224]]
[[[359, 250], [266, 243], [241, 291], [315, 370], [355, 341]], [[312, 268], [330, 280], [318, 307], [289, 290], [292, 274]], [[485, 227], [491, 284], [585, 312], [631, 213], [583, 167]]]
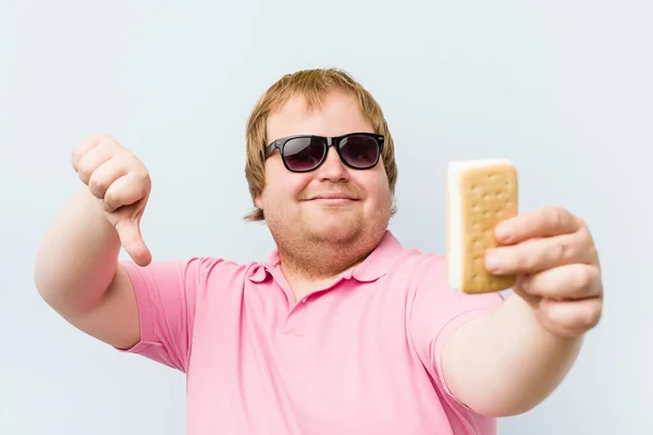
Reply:
[[596, 325], [603, 308], [601, 268], [586, 223], [546, 207], [497, 225], [485, 269], [516, 275], [513, 289], [552, 334], [578, 336]]

